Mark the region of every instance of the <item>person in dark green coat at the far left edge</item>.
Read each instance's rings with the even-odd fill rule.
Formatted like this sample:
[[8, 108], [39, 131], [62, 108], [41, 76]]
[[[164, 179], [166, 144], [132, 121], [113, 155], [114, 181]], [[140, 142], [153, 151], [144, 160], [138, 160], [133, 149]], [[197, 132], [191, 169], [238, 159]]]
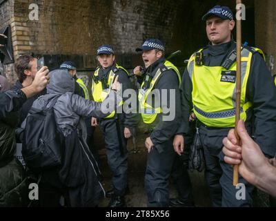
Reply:
[[[0, 92], [10, 90], [6, 77], [0, 76]], [[15, 140], [14, 126], [17, 121], [14, 114], [0, 122], [0, 207], [26, 206], [28, 204], [28, 186], [23, 166], [13, 157]], [[25, 196], [25, 197], [22, 197]]]

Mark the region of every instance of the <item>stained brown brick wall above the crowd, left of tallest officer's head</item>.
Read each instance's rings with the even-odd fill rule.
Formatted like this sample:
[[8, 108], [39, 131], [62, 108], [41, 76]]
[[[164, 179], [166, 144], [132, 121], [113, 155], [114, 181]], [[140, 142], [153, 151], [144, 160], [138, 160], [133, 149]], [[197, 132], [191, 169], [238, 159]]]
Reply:
[[[252, 2], [246, 1], [250, 7]], [[29, 19], [31, 3], [39, 6], [38, 21]], [[8, 0], [0, 6], [5, 11], [0, 17], [12, 26], [15, 59], [34, 52], [48, 55], [51, 68], [64, 59], [75, 59], [83, 64], [81, 69], [91, 70], [97, 66], [97, 47], [110, 44], [117, 61], [132, 68], [141, 64], [135, 48], [148, 37], [158, 37], [168, 53], [183, 51], [179, 58], [183, 65], [183, 59], [208, 43], [201, 16], [217, 3], [235, 9], [235, 1], [226, 0], [204, 4], [199, 0]], [[11, 81], [16, 78], [12, 72], [6, 75]]]

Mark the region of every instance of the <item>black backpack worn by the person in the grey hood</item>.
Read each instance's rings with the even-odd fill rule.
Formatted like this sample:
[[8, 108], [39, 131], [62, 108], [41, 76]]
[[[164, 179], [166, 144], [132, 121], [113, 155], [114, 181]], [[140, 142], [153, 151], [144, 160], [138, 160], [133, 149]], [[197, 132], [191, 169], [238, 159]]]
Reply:
[[58, 97], [50, 108], [37, 113], [30, 109], [23, 132], [22, 155], [28, 168], [45, 171], [61, 165], [63, 135], [55, 121], [54, 108]]

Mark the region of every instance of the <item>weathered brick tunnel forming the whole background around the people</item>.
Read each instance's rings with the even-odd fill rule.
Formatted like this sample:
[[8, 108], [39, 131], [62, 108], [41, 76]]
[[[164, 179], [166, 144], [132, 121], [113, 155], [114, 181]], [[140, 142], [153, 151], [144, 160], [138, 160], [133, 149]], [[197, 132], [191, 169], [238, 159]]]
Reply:
[[[32, 3], [38, 6], [38, 20], [29, 17], [33, 10], [32, 7], [29, 9]], [[246, 5], [243, 41], [264, 50], [271, 73], [275, 75], [276, 1], [244, 0], [243, 3]], [[164, 42], [167, 54], [181, 50], [182, 54], [175, 59], [175, 63], [179, 68], [184, 68], [184, 59], [188, 59], [200, 46], [208, 44], [201, 16], [216, 4], [235, 10], [234, 0], [0, 0], [0, 32], [6, 31], [11, 52], [11, 59], [6, 56], [3, 64], [0, 63], [0, 71], [14, 83], [17, 80], [14, 60], [23, 53], [32, 52], [43, 55], [50, 70], [57, 68], [62, 61], [72, 59], [78, 66], [79, 75], [90, 77], [97, 67], [95, 54], [101, 44], [112, 45], [119, 64], [132, 69], [141, 64], [135, 48], [144, 39], [152, 37]], [[98, 139], [99, 133], [96, 136]], [[146, 205], [143, 188], [145, 137], [143, 134], [138, 137], [141, 152], [130, 155], [132, 190], [128, 206]], [[99, 148], [103, 147], [102, 142], [97, 144]], [[104, 163], [103, 169], [104, 182], [108, 185], [110, 171]], [[210, 206], [203, 175], [194, 174], [192, 181], [197, 205]]]

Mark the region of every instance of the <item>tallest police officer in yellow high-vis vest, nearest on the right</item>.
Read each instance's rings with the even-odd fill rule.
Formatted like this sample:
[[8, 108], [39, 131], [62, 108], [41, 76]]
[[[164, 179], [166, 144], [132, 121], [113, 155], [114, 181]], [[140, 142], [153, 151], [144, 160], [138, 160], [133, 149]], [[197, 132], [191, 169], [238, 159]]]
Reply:
[[[206, 180], [213, 206], [250, 206], [250, 186], [241, 189], [233, 186], [233, 168], [223, 160], [222, 140], [235, 126], [236, 106], [236, 43], [231, 39], [235, 26], [233, 12], [225, 6], [210, 9], [202, 20], [210, 44], [197, 50], [189, 59], [181, 83], [181, 106], [184, 115], [181, 124], [184, 137], [188, 131], [188, 119], [193, 111], [197, 117], [199, 137], [206, 160]], [[267, 157], [276, 151], [276, 88], [264, 61], [264, 53], [258, 48], [242, 48], [241, 119]], [[175, 137], [175, 150], [183, 137]], [[183, 141], [182, 141], [183, 142]], [[244, 192], [243, 192], [244, 193]], [[236, 197], [238, 196], [238, 197]]]

